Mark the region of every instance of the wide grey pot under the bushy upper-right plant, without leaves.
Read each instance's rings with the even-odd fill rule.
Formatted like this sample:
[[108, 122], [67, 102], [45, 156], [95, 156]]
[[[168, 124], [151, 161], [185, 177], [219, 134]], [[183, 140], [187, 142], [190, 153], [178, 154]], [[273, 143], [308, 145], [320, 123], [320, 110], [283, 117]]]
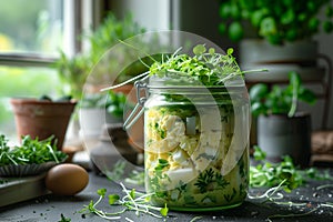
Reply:
[[296, 71], [305, 81], [322, 81], [325, 68], [317, 64], [317, 42], [296, 41], [273, 46], [260, 39], [245, 39], [240, 43], [242, 70], [266, 69], [268, 72], [245, 74], [251, 82], [286, 82], [289, 72]]

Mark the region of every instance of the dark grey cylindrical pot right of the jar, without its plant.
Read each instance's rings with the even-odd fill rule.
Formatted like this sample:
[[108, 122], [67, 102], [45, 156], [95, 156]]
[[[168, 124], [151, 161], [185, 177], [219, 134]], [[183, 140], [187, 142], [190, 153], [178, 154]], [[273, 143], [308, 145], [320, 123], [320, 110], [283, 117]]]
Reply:
[[269, 161], [279, 162], [283, 155], [290, 155], [295, 164], [307, 167], [311, 158], [311, 115], [260, 115], [258, 144]]

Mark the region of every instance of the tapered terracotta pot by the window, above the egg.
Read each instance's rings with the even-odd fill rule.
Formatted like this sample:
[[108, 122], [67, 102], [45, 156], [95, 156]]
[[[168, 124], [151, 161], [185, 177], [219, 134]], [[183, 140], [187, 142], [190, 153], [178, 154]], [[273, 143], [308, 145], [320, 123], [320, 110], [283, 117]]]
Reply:
[[63, 140], [77, 102], [50, 102], [36, 99], [11, 99], [17, 133], [44, 140], [54, 135], [57, 148], [62, 150]]

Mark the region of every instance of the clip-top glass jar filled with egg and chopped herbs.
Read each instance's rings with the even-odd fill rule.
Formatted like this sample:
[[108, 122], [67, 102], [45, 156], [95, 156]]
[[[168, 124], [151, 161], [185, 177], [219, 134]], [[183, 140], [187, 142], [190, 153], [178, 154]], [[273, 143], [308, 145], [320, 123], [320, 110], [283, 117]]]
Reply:
[[223, 87], [150, 78], [144, 100], [145, 191], [154, 205], [240, 205], [249, 186], [250, 102], [241, 77]]

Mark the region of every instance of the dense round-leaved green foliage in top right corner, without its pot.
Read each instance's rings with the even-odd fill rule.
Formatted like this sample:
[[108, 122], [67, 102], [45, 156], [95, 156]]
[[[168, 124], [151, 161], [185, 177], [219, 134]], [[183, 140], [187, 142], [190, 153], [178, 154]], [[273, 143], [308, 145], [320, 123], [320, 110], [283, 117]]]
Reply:
[[[320, 18], [323, 8], [325, 17]], [[221, 22], [221, 33], [235, 41], [244, 37], [246, 26], [255, 37], [272, 44], [311, 38], [322, 30], [333, 31], [331, 0], [225, 0], [221, 1], [220, 16], [232, 20]]]

